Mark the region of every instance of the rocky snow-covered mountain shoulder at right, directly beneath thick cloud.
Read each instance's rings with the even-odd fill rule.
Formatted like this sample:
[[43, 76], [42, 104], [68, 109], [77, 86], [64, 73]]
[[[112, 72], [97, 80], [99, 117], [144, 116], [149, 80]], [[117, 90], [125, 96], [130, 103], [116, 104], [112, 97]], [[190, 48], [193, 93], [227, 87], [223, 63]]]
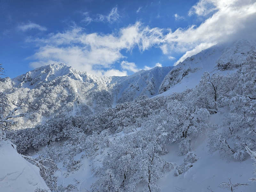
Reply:
[[256, 43], [248, 40], [238, 40], [228, 44], [217, 44], [188, 57], [164, 77], [158, 93], [164, 95], [172, 92], [180, 92], [187, 88], [193, 88], [199, 83], [205, 71], [210, 74], [225, 74], [239, 67], [252, 50], [256, 49]]

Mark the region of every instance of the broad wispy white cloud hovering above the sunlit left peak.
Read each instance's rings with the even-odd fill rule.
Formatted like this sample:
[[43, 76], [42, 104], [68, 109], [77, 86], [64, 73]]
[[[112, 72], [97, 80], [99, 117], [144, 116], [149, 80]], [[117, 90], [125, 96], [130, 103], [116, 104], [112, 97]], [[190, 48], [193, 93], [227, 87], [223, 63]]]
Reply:
[[[81, 71], [102, 76], [102, 68], [113, 68], [113, 64], [124, 58], [121, 50], [132, 50], [138, 46], [141, 51], [163, 39], [161, 29], [143, 27], [140, 22], [120, 29], [118, 35], [86, 34], [82, 28], [73, 28], [63, 33], [49, 34], [47, 38], [28, 38], [28, 42], [39, 46], [37, 52], [30, 57], [32, 67], [49, 64], [49, 61], [63, 62]], [[137, 72], [134, 64], [123, 63], [123, 69]], [[114, 72], [112, 70], [112, 72]], [[123, 73], [124, 75], [124, 73]]]

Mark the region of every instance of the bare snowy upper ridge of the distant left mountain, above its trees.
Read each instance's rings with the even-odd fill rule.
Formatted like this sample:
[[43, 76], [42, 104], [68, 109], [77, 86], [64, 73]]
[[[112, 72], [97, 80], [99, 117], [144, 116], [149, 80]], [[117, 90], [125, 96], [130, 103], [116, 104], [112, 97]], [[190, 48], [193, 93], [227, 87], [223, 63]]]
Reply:
[[[173, 67], [155, 67], [150, 70], [141, 70], [131, 76], [103, 76], [98, 77], [88, 72], [77, 71], [72, 67], [68, 67], [63, 63], [51, 64], [36, 68], [26, 74], [17, 76], [12, 79], [13, 87], [16, 88], [38, 88], [40, 85], [60, 78], [69, 78], [82, 83], [94, 84], [92, 89], [117, 93], [116, 99], [126, 100], [121, 98], [125, 93], [131, 93], [132, 99], [135, 99], [140, 94], [145, 94], [148, 97], [156, 95], [159, 86], [164, 79], [164, 76]], [[58, 83], [58, 82], [56, 82]]]

